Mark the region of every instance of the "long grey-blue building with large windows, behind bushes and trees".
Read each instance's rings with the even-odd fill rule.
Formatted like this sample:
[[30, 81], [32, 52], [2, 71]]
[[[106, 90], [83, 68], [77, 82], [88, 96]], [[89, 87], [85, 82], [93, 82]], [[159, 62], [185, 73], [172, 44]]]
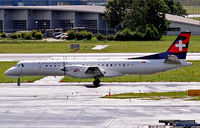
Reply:
[[[93, 33], [113, 34], [115, 28], [104, 21], [104, 6], [1, 6], [0, 32], [61, 28], [85, 29]], [[168, 35], [191, 31], [200, 35], [200, 22], [180, 16], [166, 15], [171, 21]]]

